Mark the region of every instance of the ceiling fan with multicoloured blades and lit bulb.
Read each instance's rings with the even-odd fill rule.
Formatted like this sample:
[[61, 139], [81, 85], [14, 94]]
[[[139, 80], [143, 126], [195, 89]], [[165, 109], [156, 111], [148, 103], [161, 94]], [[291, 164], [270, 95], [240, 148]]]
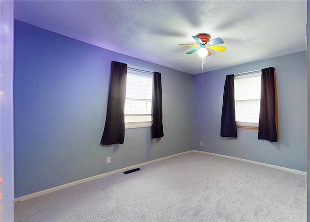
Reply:
[[199, 50], [198, 54], [199, 56], [203, 58], [203, 57], [211, 55], [211, 52], [209, 49], [219, 51], [219, 52], [224, 52], [226, 50], [226, 47], [224, 46], [217, 46], [217, 45], [224, 43], [224, 41], [219, 37], [210, 40], [211, 35], [207, 33], [199, 33], [195, 36], [192, 35], [192, 37], [193, 39], [195, 39], [197, 44], [179, 44], [179, 46], [197, 47], [197, 48], [190, 50], [189, 52], [186, 52], [186, 54], [192, 54], [193, 52]]

